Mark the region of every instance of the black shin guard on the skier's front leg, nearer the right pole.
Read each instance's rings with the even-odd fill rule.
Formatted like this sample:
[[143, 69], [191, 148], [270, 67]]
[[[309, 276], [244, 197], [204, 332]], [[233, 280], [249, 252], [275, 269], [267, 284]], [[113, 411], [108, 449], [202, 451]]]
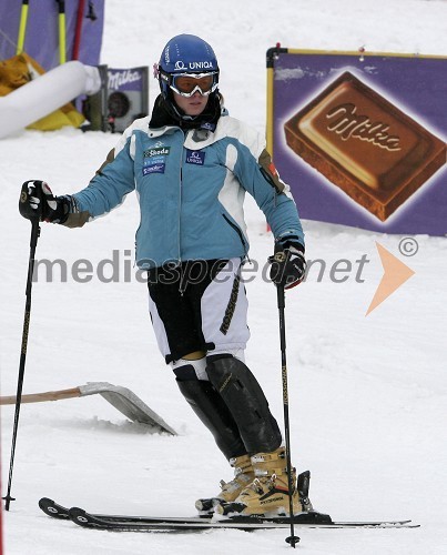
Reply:
[[232, 355], [212, 355], [207, 361], [206, 374], [233, 415], [247, 453], [278, 448], [280, 427], [250, 369]]

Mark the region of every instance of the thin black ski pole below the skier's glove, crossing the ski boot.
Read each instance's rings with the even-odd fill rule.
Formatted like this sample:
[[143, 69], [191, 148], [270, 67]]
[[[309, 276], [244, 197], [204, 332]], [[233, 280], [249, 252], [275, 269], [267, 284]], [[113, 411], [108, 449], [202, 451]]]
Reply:
[[299, 542], [299, 537], [295, 536], [294, 527], [294, 514], [293, 514], [293, 468], [292, 468], [292, 457], [291, 457], [291, 422], [288, 418], [288, 385], [287, 385], [287, 360], [286, 360], [286, 342], [285, 342], [285, 294], [284, 285], [276, 285], [277, 292], [277, 307], [280, 315], [280, 345], [281, 345], [281, 369], [282, 369], [282, 380], [283, 380], [283, 405], [284, 405], [284, 432], [285, 432], [285, 451], [287, 457], [287, 477], [288, 477], [288, 512], [291, 515], [291, 536], [286, 538], [286, 542], [295, 547], [295, 544]]

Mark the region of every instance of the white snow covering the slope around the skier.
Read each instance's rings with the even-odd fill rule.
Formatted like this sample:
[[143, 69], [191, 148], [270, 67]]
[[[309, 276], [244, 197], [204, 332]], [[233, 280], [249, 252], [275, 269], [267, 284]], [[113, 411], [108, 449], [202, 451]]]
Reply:
[[[227, 0], [164, 4], [108, 0], [102, 61], [152, 65], [169, 38], [193, 32], [220, 58], [227, 108], [261, 131], [265, 124], [265, 51], [289, 48], [447, 53], [447, 2], [423, 0]], [[156, 83], [151, 80], [152, 100]], [[83, 188], [118, 137], [22, 132], [0, 143], [1, 334], [3, 395], [14, 394], [24, 307], [30, 225], [17, 210], [21, 183], [44, 179], [57, 194]], [[272, 251], [261, 212], [247, 203], [252, 259]], [[120, 253], [131, 264], [134, 195], [82, 230], [42, 225], [38, 259], [90, 260]], [[417, 236], [412, 259], [400, 236], [304, 222], [309, 259], [331, 265], [366, 254], [364, 283], [307, 282], [287, 294], [287, 362], [293, 462], [312, 471], [314, 506], [334, 519], [413, 518], [417, 529], [299, 531], [315, 554], [447, 553], [446, 274], [447, 242]], [[383, 269], [375, 241], [416, 273], [365, 317]], [[126, 261], [126, 262], [125, 262]], [[133, 270], [132, 270], [132, 275]], [[275, 292], [257, 276], [247, 285], [252, 340], [247, 363], [282, 422]], [[8, 555], [284, 553], [286, 531], [199, 535], [111, 534], [48, 518], [41, 496], [94, 512], [191, 515], [194, 501], [230, 478], [210, 433], [183, 401], [159, 355], [136, 279], [33, 286], [23, 393], [105, 381], [131, 389], [179, 435], [151, 434], [99, 395], [22, 405], [12, 494], [3, 513]], [[8, 482], [13, 406], [2, 418], [2, 494]]]

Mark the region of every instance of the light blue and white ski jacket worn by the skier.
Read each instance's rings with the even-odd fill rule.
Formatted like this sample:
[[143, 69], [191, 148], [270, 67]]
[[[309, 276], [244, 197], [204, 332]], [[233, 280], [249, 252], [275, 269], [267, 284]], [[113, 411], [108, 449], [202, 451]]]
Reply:
[[248, 192], [276, 240], [298, 238], [302, 225], [260, 133], [222, 115], [214, 131], [151, 129], [135, 120], [90, 184], [72, 195], [69, 226], [119, 206], [135, 190], [141, 221], [136, 264], [244, 258], [248, 252], [243, 201]]

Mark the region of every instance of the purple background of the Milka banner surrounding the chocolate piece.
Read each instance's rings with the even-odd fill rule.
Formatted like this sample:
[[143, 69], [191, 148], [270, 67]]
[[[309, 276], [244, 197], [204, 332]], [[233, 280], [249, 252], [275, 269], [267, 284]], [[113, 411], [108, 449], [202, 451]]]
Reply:
[[281, 53], [274, 65], [273, 155], [301, 218], [385, 233], [446, 235], [447, 164], [380, 222], [286, 144], [284, 123], [345, 71], [447, 139], [447, 59]]

